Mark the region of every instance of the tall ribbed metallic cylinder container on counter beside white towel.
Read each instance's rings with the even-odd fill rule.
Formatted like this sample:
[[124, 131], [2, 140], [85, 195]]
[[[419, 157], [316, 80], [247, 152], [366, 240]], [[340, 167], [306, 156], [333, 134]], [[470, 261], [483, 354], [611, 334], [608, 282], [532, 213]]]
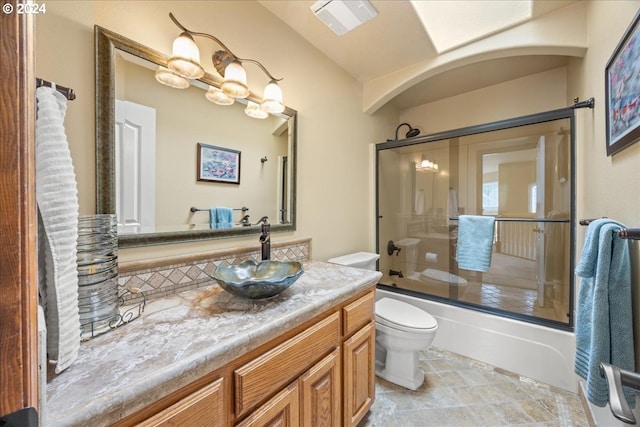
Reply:
[[86, 339], [106, 332], [120, 319], [115, 215], [78, 218], [77, 256], [81, 337]]

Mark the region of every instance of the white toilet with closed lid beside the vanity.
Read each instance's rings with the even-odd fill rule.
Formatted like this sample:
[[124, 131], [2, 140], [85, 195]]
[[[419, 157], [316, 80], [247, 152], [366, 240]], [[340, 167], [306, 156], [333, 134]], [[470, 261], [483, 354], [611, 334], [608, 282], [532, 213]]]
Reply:
[[[330, 263], [376, 269], [379, 255], [358, 252], [337, 258]], [[416, 390], [424, 382], [419, 352], [431, 345], [438, 323], [426, 311], [392, 298], [382, 298], [375, 304], [376, 375], [399, 386]]]

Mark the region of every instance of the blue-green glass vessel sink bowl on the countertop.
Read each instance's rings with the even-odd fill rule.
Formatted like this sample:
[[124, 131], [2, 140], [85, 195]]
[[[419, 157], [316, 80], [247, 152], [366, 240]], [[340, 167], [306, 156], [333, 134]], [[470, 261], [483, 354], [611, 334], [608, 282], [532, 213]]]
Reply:
[[249, 299], [265, 299], [278, 295], [302, 275], [298, 261], [244, 261], [229, 267], [218, 267], [212, 277], [222, 289]]

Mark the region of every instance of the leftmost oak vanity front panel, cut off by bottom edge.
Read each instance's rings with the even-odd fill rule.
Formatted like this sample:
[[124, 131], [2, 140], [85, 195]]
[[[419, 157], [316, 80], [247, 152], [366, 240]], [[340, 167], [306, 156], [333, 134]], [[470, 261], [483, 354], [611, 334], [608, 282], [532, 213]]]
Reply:
[[220, 378], [158, 412], [138, 427], [226, 427], [223, 385], [224, 378]]

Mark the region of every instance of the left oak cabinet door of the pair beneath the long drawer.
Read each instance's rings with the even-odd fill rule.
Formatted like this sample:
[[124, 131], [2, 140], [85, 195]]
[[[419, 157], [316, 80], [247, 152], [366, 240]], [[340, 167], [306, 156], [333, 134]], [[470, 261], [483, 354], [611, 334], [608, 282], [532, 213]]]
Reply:
[[256, 409], [236, 427], [298, 427], [300, 426], [300, 393], [298, 382], [276, 394]]

